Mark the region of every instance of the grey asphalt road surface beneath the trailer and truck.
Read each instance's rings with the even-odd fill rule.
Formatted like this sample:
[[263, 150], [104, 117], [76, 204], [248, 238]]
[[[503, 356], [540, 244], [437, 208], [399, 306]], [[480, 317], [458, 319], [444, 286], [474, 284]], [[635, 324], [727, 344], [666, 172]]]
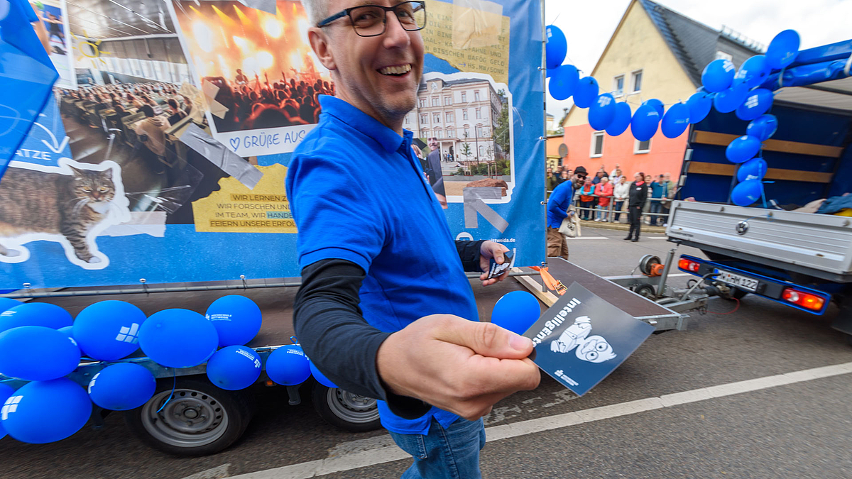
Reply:
[[[659, 234], [644, 235], [638, 243], [620, 240], [624, 235], [621, 231], [584, 228], [584, 239], [569, 244], [571, 260], [597, 274], [628, 274], [642, 255], [665, 257], [671, 249], [670, 243], [658, 239]], [[679, 252], [700, 254], [688, 248]], [[475, 291], [483, 314], [498, 298], [498, 290], [476, 287]], [[280, 325], [266, 339], [285, 338], [294, 292], [250, 291], [250, 296], [262, 304], [264, 319]], [[136, 295], [125, 299], [147, 313], [164, 303], [168, 303], [165, 307], [203, 311], [222, 294]], [[62, 303], [75, 313], [95, 300], [51, 302]], [[849, 477], [852, 374], [835, 372], [792, 384], [763, 384], [763, 378], [852, 361], [852, 348], [842, 334], [828, 326], [836, 310], [832, 307], [827, 317], [820, 318], [757, 297], [745, 297], [739, 308], [736, 303], [716, 299], [708, 309], [707, 315], [692, 315], [688, 331], [652, 335], [582, 398], [543, 378], [537, 390], [499, 402], [486, 417], [486, 427], [495, 428], [491, 431], [498, 434], [500, 426], [513, 424], [515, 432], [488, 442], [482, 452], [483, 476]], [[541, 427], [550, 421], [561, 424], [573, 417], [569, 413], [590, 417], [599, 411], [630, 409], [630, 405], [642, 401], [659, 401], [655, 398], [660, 396], [683, 391], [694, 395], [703, 388], [756, 379], [750, 384], [759, 387], [741, 394], [628, 411], [616, 417], [553, 426], [556, 429]], [[309, 398], [308, 391], [303, 393], [303, 398]], [[398, 477], [410, 464], [410, 459], [382, 459], [383, 451], [393, 450], [382, 430], [360, 434], [337, 430], [313, 412], [310, 401], [287, 406], [285, 392], [277, 388], [265, 390], [258, 399], [258, 413], [245, 436], [214, 456], [176, 458], [153, 451], [130, 435], [119, 414], [112, 414], [100, 430], [87, 426], [53, 444], [34, 446], [9, 438], [0, 440], [2, 477], [181, 479], [253, 472], [257, 479], [308, 477], [294, 472], [302, 466], [293, 465], [310, 470], [319, 461], [334, 459], [328, 464], [343, 467], [323, 477], [366, 479]], [[638, 402], [625, 406], [629, 401]], [[600, 407], [604, 408], [595, 409]], [[378, 459], [359, 463], [364, 457]], [[366, 466], [352, 468], [354, 465]], [[279, 469], [285, 466], [291, 467]]]

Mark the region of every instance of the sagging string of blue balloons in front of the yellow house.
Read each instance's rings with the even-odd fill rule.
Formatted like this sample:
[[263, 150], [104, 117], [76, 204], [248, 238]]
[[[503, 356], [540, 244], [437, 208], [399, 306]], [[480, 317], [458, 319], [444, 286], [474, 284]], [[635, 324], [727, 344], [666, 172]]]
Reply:
[[699, 110], [684, 103], [675, 103], [665, 110], [662, 101], [651, 99], [636, 108], [630, 109], [626, 101], [616, 101], [610, 93], [600, 93], [597, 80], [593, 77], [579, 77], [579, 71], [573, 65], [562, 65], [567, 53], [565, 34], [556, 26], [547, 26], [547, 44], [545, 46], [545, 64], [547, 77], [550, 78], [548, 91], [556, 100], [567, 100], [573, 96], [574, 105], [589, 108], [589, 124], [595, 130], [606, 130], [610, 136], [619, 136], [630, 127], [633, 136], [639, 141], [648, 141], [657, 130], [662, 130], [668, 138], [681, 136], [690, 123], [698, 123], [710, 113], [710, 101], [698, 105], [706, 108], [700, 119]]

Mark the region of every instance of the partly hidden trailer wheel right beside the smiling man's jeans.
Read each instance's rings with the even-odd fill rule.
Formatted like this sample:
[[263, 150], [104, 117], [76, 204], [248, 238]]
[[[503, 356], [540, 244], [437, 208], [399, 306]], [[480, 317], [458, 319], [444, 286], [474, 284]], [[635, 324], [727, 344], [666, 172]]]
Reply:
[[325, 422], [350, 432], [365, 432], [382, 427], [375, 399], [340, 388], [314, 384], [314, 409]]

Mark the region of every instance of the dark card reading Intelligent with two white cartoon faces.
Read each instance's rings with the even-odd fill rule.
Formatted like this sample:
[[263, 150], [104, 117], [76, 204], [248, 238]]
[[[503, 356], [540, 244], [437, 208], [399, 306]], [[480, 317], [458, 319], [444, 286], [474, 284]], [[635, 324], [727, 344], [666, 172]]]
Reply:
[[652, 332], [653, 326], [573, 283], [524, 336], [533, 340], [533, 361], [542, 371], [584, 395]]

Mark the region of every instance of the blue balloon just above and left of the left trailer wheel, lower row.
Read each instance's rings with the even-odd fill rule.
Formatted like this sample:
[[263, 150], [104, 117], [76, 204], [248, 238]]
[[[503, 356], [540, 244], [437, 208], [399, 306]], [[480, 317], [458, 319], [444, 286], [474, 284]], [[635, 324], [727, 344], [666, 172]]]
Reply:
[[140, 407], [151, 399], [156, 389], [154, 375], [133, 362], [107, 366], [89, 381], [92, 402], [111, 411], [129, 411]]

